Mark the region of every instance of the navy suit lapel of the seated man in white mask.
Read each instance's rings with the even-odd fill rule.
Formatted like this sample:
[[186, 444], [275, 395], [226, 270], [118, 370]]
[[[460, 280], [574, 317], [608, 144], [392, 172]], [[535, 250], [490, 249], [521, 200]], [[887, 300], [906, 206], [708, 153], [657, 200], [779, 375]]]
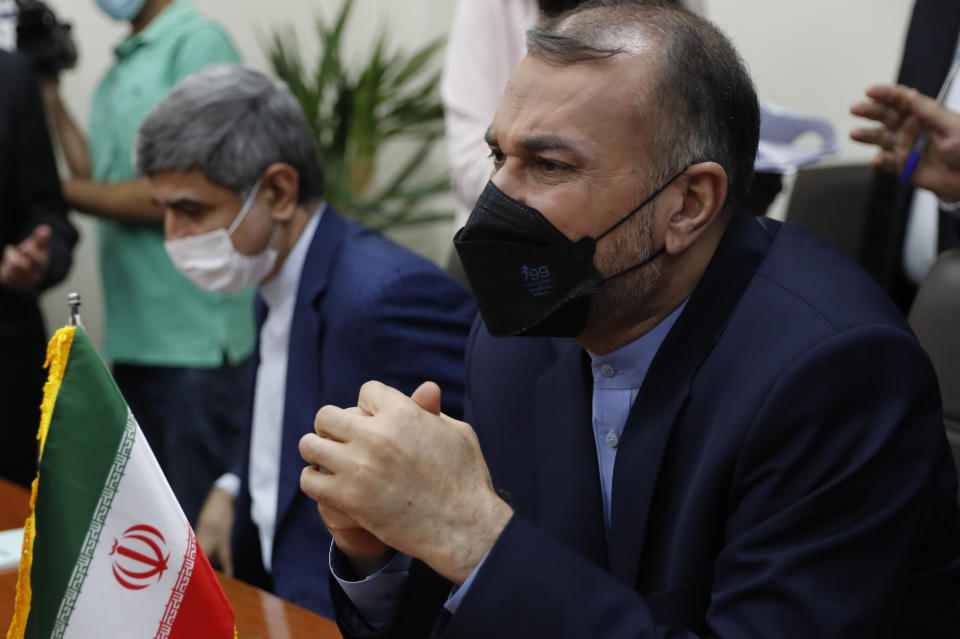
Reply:
[[317, 224], [300, 273], [287, 347], [275, 534], [279, 533], [300, 490], [300, 471], [305, 465], [298, 448], [300, 438], [313, 431], [313, 418], [323, 401], [321, 345], [325, 315], [321, 301], [334, 270], [336, 254], [349, 229], [346, 221], [328, 205]]

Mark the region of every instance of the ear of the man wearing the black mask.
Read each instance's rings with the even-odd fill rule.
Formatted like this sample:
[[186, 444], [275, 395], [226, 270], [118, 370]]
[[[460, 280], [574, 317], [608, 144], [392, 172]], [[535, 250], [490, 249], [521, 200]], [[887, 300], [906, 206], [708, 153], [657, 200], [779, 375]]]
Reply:
[[667, 253], [682, 253], [703, 235], [727, 200], [727, 173], [716, 162], [691, 165], [677, 178], [682, 198], [670, 214], [664, 246]]

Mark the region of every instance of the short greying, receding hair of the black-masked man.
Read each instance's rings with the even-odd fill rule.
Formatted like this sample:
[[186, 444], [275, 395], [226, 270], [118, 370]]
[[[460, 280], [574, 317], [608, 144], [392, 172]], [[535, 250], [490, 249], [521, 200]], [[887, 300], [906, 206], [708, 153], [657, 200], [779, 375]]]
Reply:
[[[647, 99], [656, 109], [657, 177], [665, 181], [696, 162], [727, 174], [729, 212], [753, 178], [760, 108], [739, 54], [708, 21], [666, 0], [588, 0], [527, 33], [530, 55], [550, 64], [608, 64], [653, 43], [658, 77]], [[649, 113], [639, 113], [647, 117]]]

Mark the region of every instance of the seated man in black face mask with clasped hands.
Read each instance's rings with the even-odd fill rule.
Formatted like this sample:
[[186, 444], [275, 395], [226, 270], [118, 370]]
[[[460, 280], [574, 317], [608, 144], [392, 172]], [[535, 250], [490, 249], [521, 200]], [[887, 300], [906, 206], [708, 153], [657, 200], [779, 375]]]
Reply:
[[344, 634], [956, 634], [935, 375], [866, 274], [743, 214], [736, 52], [615, 0], [529, 42], [456, 239], [469, 424], [371, 382], [300, 442]]

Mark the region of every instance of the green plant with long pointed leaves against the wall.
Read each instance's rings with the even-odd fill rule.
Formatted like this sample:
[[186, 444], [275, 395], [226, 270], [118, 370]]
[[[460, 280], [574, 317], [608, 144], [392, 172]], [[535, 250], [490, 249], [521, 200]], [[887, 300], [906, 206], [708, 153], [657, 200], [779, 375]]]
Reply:
[[[344, 215], [379, 230], [449, 220], [452, 213], [430, 209], [437, 195], [449, 192], [449, 178], [429, 175], [426, 167], [443, 135], [440, 71], [433, 64], [443, 39], [407, 53], [391, 50], [384, 29], [366, 61], [349, 68], [341, 45], [352, 8], [353, 0], [345, 0], [334, 20], [318, 18], [320, 52], [313, 68], [304, 64], [292, 33], [274, 32], [268, 52], [319, 143], [326, 198]], [[408, 143], [402, 147], [407, 153], [382, 185], [375, 184], [378, 157], [400, 140]]]

